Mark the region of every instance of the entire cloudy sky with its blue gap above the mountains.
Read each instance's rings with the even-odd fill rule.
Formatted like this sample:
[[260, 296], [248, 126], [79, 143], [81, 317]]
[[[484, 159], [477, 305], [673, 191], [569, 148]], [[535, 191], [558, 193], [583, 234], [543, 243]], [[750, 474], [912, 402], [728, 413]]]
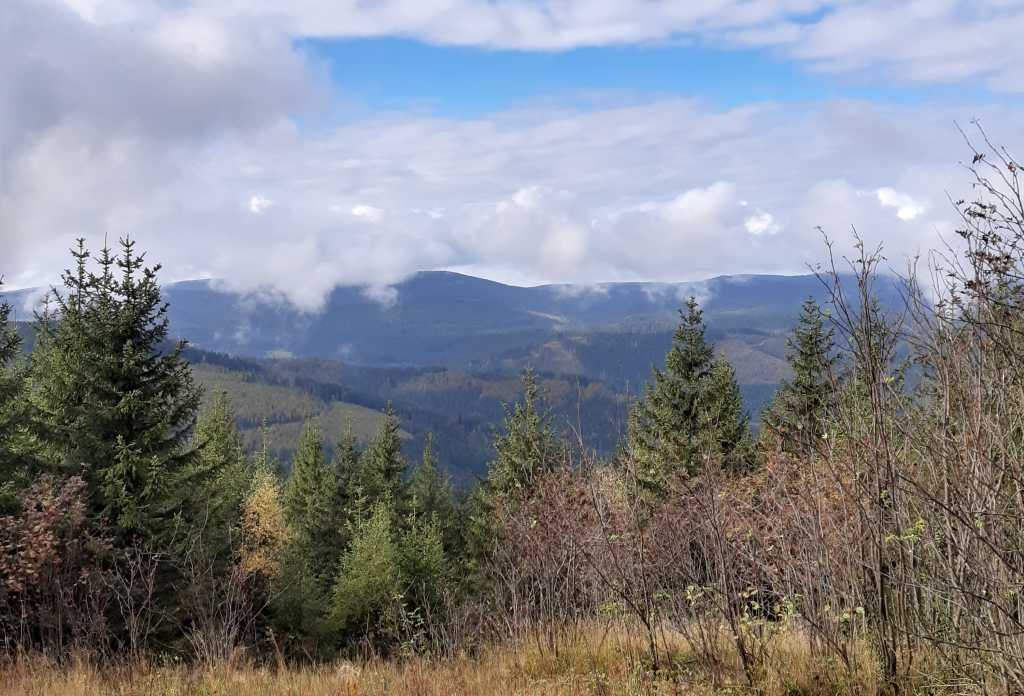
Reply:
[[131, 235], [316, 311], [422, 269], [800, 273], [955, 244], [1024, 137], [1018, 0], [3, 0], [0, 273]]

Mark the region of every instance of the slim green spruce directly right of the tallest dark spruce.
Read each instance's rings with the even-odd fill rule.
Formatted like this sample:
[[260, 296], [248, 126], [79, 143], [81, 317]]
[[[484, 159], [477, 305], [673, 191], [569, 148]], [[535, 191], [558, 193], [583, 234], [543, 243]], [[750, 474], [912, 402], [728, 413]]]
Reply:
[[197, 468], [208, 481], [200, 511], [211, 551], [226, 558], [251, 476], [234, 425], [234, 411], [225, 392], [219, 392], [196, 424]]

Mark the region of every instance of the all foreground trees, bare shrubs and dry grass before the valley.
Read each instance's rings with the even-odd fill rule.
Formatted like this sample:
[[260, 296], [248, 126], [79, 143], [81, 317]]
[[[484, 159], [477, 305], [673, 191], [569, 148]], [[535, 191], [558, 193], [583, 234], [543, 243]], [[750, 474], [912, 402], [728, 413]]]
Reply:
[[80, 245], [32, 354], [0, 327], [5, 690], [1024, 691], [1024, 195], [974, 167], [901, 312], [824, 268], [757, 437], [691, 300], [612, 456], [526, 373], [458, 493], [390, 407], [247, 453], [157, 269]]

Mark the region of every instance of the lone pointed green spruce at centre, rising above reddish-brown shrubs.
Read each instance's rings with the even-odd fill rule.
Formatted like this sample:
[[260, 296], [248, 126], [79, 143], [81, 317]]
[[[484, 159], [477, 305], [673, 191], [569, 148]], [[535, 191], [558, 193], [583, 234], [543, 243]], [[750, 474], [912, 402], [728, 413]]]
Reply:
[[563, 460], [564, 446], [552, 427], [532, 371], [523, 373], [522, 388], [522, 400], [505, 408], [504, 432], [495, 440], [497, 456], [487, 472], [493, 494], [528, 492], [538, 475], [555, 470]]

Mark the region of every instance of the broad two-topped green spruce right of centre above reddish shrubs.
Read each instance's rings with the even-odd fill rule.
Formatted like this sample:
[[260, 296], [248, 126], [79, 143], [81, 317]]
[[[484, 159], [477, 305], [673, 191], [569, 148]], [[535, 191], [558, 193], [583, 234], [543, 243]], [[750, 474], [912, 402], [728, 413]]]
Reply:
[[705, 339], [703, 312], [690, 298], [665, 359], [630, 415], [629, 444], [641, 479], [660, 486], [675, 472], [693, 473], [703, 458], [739, 466], [750, 446], [746, 417], [732, 368]]

